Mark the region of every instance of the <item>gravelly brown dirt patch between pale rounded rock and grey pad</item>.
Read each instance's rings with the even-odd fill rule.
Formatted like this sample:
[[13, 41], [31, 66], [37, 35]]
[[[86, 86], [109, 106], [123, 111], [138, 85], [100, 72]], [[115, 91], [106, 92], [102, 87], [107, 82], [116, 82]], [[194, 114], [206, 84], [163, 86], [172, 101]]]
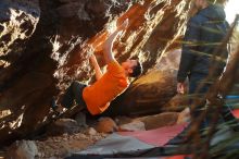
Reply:
[[[88, 131], [89, 129], [87, 129]], [[64, 158], [67, 155], [80, 151], [97, 140], [106, 136], [103, 133], [89, 134], [87, 131], [72, 135], [47, 137], [43, 140], [36, 140], [38, 158]]]

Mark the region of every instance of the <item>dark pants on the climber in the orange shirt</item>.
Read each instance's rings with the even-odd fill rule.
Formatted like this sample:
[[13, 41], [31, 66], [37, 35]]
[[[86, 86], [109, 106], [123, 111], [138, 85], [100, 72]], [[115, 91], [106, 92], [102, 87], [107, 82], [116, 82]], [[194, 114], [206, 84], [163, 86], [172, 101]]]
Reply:
[[63, 95], [61, 101], [62, 107], [68, 109], [73, 107], [74, 101], [76, 101], [79, 107], [86, 108], [86, 102], [83, 99], [83, 90], [86, 86], [86, 84], [74, 81]]

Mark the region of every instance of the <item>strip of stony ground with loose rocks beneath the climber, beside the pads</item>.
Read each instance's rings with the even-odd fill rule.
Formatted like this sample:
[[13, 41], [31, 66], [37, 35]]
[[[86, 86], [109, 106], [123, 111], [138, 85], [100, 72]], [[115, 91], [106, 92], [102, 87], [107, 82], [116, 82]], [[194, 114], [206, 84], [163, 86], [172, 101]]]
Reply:
[[[187, 111], [183, 113], [166, 112], [156, 115], [127, 118], [117, 117], [87, 119], [87, 125], [79, 120], [59, 119], [43, 135], [34, 140], [17, 140], [1, 152], [1, 158], [64, 158], [80, 151], [99, 139], [116, 131], [151, 130], [184, 122]], [[81, 122], [81, 121], [80, 121]]]

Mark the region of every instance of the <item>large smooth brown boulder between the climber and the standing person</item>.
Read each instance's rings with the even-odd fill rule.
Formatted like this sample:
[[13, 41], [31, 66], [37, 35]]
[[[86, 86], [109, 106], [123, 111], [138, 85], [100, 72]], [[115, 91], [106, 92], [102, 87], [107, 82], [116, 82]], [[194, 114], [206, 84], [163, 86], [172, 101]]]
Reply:
[[135, 81], [124, 94], [115, 98], [105, 114], [148, 115], [168, 110], [183, 110], [178, 109], [178, 105], [185, 102], [185, 99], [174, 97], [177, 94], [176, 80], [180, 54], [180, 49], [172, 49], [164, 53], [154, 69]]

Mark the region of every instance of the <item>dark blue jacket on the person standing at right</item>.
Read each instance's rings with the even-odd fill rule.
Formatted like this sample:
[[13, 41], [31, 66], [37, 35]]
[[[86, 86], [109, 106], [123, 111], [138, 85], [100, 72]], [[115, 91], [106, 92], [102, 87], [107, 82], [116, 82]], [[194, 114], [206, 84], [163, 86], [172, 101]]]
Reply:
[[[225, 17], [222, 7], [209, 5], [189, 20], [177, 75], [178, 82], [184, 82], [193, 73], [205, 76], [209, 74], [212, 54], [227, 34], [229, 25]], [[223, 72], [228, 56], [226, 47], [222, 51], [225, 59], [216, 61], [217, 74]]]

